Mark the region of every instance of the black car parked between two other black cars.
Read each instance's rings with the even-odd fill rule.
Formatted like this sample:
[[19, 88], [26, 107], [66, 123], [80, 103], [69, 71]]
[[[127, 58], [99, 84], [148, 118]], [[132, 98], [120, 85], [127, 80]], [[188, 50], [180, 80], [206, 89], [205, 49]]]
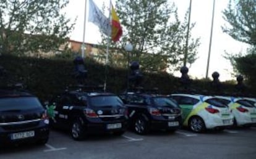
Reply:
[[127, 128], [127, 108], [111, 93], [66, 91], [55, 97], [54, 127], [69, 129], [75, 140], [87, 134], [122, 135]]

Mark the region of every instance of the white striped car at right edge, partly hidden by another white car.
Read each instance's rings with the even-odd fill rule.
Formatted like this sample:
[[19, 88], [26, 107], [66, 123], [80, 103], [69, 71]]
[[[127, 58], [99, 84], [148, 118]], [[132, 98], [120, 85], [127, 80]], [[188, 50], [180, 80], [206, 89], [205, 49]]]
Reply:
[[242, 97], [223, 97], [216, 96], [221, 99], [221, 102], [228, 104], [231, 108], [234, 115], [234, 125], [235, 126], [245, 126], [250, 127], [253, 124], [256, 124], [256, 107], [255, 103], [253, 104], [250, 101], [252, 99], [246, 99]]

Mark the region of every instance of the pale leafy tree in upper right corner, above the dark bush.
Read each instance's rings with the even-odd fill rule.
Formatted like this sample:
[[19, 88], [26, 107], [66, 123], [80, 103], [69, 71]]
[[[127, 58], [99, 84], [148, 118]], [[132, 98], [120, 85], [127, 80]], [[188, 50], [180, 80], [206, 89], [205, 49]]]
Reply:
[[243, 43], [256, 46], [256, 1], [229, 0], [223, 11], [223, 18], [229, 26], [222, 27], [224, 33]]

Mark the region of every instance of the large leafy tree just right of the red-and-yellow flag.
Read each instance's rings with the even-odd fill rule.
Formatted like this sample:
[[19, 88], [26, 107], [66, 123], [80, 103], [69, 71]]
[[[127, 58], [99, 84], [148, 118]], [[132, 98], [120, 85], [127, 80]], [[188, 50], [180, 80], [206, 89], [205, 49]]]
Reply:
[[[119, 48], [126, 59], [124, 62], [128, 53], [122, 48], [129, 42], [134, 46], [134, 51], [129, 53], [130, 60], [139, 60], [142, 70], [181, 67], [186, 51], [187, 18], [184, 23], [179, 21], [174, 4], [170, 6], [167, 0], [117, 0], [116, 10], [124, 31], [120, 43], [111, 43], [111, 47]], [[103, 45], [106, 45], [105, 38]], [[190, 63], [196, 59], [198, 46], [199, 39], [190, 39]]]

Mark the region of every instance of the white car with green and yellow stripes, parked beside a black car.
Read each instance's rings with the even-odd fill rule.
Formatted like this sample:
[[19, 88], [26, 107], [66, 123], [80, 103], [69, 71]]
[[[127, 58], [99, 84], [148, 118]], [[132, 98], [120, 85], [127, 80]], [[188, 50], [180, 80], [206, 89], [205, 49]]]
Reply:
[[205, 129], [224, 129], [233, 125], [234, 116], [227, 105], [218, 102], [216, 97], [171, 94], [182, 108], [183, 126], [194, 132]]

